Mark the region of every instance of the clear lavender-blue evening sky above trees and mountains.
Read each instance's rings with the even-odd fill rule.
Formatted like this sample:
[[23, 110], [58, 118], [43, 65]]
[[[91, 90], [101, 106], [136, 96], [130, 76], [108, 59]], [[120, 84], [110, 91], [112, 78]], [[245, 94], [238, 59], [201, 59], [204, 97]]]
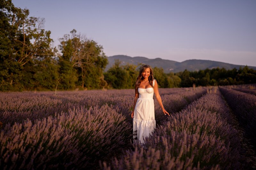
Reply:
[[76, 29], [107, 56], [256, 66], [256, 0], [12, 0], [45, 18], [54, 46]]

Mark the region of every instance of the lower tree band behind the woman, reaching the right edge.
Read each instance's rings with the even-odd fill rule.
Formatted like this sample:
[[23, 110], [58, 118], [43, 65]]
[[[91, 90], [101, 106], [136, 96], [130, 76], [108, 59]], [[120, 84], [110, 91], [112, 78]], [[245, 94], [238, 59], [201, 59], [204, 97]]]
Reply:
[[[139, 74], [140, 65], [127, 64], [121, 66], [116, 60], [115, 64], [104, 73], [108, 85], [116, 89], [134, 88], [134, 83]], [[136, 70], [137, 68], [137, 70]], [[198, 71], [184, 70], [178, 73], [164, 73], [163, 68], [153, 68], [154, 78], [160, 88], [192, 87], [209, 85], [238, 85], [256, 83], [256, 70], [248, 66], [231, 70], [213, 68]]]

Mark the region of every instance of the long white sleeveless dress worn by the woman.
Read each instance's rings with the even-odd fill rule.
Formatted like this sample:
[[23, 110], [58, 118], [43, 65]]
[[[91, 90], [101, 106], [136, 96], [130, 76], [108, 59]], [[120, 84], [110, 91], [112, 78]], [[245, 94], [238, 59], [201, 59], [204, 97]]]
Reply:
[[[153, 80], [155, 85], [155, 80]], [[143, 137], [148, 137], [156, 128], [155, 108], [154, 108], [154, 89], [138, 88], [139, 98], [134, 108], [133, 117], [133, 139], [138, 139], [144, 143]]]

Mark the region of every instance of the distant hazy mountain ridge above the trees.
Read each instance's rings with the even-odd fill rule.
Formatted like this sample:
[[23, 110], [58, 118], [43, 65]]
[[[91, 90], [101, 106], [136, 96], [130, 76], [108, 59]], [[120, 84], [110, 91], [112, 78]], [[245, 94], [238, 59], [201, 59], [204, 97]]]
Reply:
[[[198, 70], [204, 70], [206, 68], [208, 69], [213, 69], [216, 67], [222, 68], [224, 67], [225, 69], [239, 69], [240, 66], [244, 67], [244, 65], [235, 65], [235, 64], [229, 64], [229, 63], [223, 63], [223, 62], [217, 62], [217, 61], [211, 61], [211, 60], [186, 60], [183, 62], [176, 62], [172, 60], [164, 60], [161, 58], [155, 58], [155, 59], [149, 59], [146, 57], [130, 57], [127, 55], [114, 55], [108, 57], [108, 65], [106, 67], [106, 70], [108, 70], [114, 63], [115, 59], [119, 59], [121, 61], [122, 65], [125, 65], [127, 63], [131, 64], [148, 64], [152, 68], [153, 67], [162, 67], [164, 69], [165, 73], [169, 73], [170, 71], [172, 72], [179, 72], [179, 71], [184, 71], [185, 69], [189, 71], [198, 71]], [[256, 70], [256, 67], [253, 66], [248, 66], [249, 68], [252, 68]]]

